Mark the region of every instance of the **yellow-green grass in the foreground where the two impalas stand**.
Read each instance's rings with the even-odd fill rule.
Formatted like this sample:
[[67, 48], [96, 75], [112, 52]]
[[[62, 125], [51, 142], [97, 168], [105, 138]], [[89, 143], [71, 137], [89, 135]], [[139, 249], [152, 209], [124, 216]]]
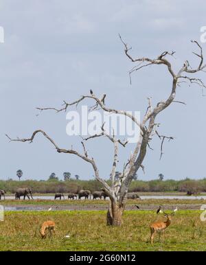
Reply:
[[[178, 211], [164, 242], [157, 235], [151, 246], [148, 225], [164, 219], [155, 211], [125, 211], [122, 227], [107, 227], [106, 211], [8, 211], [0, 222], [0, 251], [206, 251], [206, 223], [200, 214]], [[45, 220], [56, 222], [56, 236], [35, 238], [36, 227]]]

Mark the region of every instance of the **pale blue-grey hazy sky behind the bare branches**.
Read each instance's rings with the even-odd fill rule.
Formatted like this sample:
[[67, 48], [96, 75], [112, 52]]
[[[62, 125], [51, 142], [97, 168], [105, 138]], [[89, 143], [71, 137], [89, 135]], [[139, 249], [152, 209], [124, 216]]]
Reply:
[[[0, 43], [0, 178], [47, 179], [52, 172], [63, 172], [93, 179], [91, 165], [70, 154], [58, 154], [41, 135], [33, 143], [9, 143], [5, 137], [27, 138], [43, 129], [61, 148], [82, 152], [80, 137], [66, 134], [67, 113], [46, 111], [38, 106], [61, 107], [63, 100], [72, 102], [92, 89], [95, 95], [106, 93], [106, 106], [126, 111], [147, 108], [164, 100], [172, 80], [163, 66], [152, 66], [133, 74], [135, 65], [126, 58], [119, 40], [121, 34], [133, 47], [134, 57], [156, 58], [163, 51], [176, 51], [170, 58], [174, 71], [185, 60], [196, 67], [198, 49], [190, 40], [200, 41], [201, 27], [206, 25], [206, 2], [161, 0], [1, 0], [0, 26], [4, 43]], [[206, 43], [201, 43], [206, 56]], [[206, 79], [205, 73], [196, 77]], [[205, 81], [206, 82], [206, 81]], [[205, 92], [206, 94], [206, 92]], [[181, 84], [176, 100], [157, 118], [159, 133], [174, 137], [165, 141], [159, 160], [160, 141], [150, 142], [144, 160], [145, 174], [140, 179], [203, 178], [206, 143], [206, 97], [197, 86]], [[93, 102], [85, 101], [91, 106]], [[78, 106], [80, 109], [80, 106]], [[71, 108], [75, 109], [75, 108]], [[134, 145], [119, 147], [121, 171]], [[108, 139], [87, 142], [89, 155], [98, 164], [100, 176], [108, 178], [113, 163], [113, 146]]]

